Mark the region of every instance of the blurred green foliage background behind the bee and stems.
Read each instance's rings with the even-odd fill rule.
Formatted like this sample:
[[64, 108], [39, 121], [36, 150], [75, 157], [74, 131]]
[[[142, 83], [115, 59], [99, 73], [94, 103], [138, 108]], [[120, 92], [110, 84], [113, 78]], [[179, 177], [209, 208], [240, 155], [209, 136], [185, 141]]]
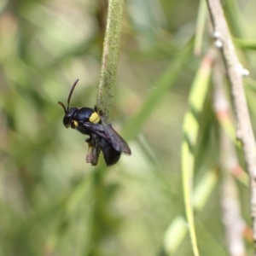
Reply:
[[[0, 1], [0, 255], [165, 255], [166, 229], [184, 212], [180, 148], [201, 62], [192, 49], [198, 8], [191, 0], [125, 1], [111, 119], [132, 155], [106, 168], [102, 158], [85, 163], [84, 137], [62, 125], [57, 105], [78, 78], [72, 105], [96, 103], [106, 2]], [[256, 38], [255, 9], [255, 0], [224, 1], [235, 38]], [[212, 45], [209, 27], [202, 54]], [[256, 44], [237, 47], [251, 73], [255, 126]], [[201, 127], [195, 182], [218, 163], [211, 92]], [[202, 255], [228, 255], [219, 186], [196, 215]], [[247, 187], [238, 188], [250, 225]], [[173, 255], [192, 255], [188, 235]]]

